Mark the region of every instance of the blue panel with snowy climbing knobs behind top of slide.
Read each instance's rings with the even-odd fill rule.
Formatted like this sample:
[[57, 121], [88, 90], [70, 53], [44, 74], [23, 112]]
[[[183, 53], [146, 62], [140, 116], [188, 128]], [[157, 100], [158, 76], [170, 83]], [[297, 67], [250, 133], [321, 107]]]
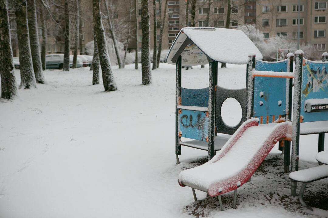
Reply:
[[[278, 62], [256, 60], [255, 70], [287, 72], [288, 59]], [[286, 111], [286, 78], [260, 77], [254, 80], [254, 116], [282, 115]], [[277, 118], [276, 118], [277, 119]], [[269, 123], [272, 117], [269, 117]]]

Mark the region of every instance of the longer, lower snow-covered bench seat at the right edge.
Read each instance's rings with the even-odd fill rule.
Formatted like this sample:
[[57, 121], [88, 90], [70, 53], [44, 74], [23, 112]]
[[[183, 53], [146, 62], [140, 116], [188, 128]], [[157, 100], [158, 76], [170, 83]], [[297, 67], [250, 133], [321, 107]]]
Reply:
[[328, 165], [298, 170], [290, 173], [289, 178], [297, 182], [314, 182], [320, 179], [328, 178]]

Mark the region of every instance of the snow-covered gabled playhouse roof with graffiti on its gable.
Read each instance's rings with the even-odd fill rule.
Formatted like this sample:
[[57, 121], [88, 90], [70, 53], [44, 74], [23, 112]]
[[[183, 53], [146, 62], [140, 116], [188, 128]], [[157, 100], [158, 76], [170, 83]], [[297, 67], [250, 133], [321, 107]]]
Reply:
[[166, 61], [175, 64], [181, 54], [182, 66], [208, 64], [208, 58], [218, 62], [247, 64], [248, 55], [262, 59], [261, 52], [244, 32], [214, 27], [185, 27], [175, 38]]

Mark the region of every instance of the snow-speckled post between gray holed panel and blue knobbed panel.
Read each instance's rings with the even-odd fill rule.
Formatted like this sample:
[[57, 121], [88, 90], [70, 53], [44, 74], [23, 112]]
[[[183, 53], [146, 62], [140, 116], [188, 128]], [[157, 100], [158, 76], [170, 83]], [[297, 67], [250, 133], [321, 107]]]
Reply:
[[247, 90], [247, 115], [246, 120], [253, 116], [254, 112], [254, 78], [252, 71], [255, 69], [255, 55], [248, 56], [246, 69], [246, 90]]

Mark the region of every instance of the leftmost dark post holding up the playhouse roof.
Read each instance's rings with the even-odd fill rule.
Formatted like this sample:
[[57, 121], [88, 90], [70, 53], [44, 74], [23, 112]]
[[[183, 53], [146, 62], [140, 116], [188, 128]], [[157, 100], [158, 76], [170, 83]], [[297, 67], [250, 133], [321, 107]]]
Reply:
[[176, 164], [180, 163], [181, 155], [181, 137], [179, 136], [179, 109], [177, 106], [181, 103], [181, 55], [175, 63], [175, 155]]

